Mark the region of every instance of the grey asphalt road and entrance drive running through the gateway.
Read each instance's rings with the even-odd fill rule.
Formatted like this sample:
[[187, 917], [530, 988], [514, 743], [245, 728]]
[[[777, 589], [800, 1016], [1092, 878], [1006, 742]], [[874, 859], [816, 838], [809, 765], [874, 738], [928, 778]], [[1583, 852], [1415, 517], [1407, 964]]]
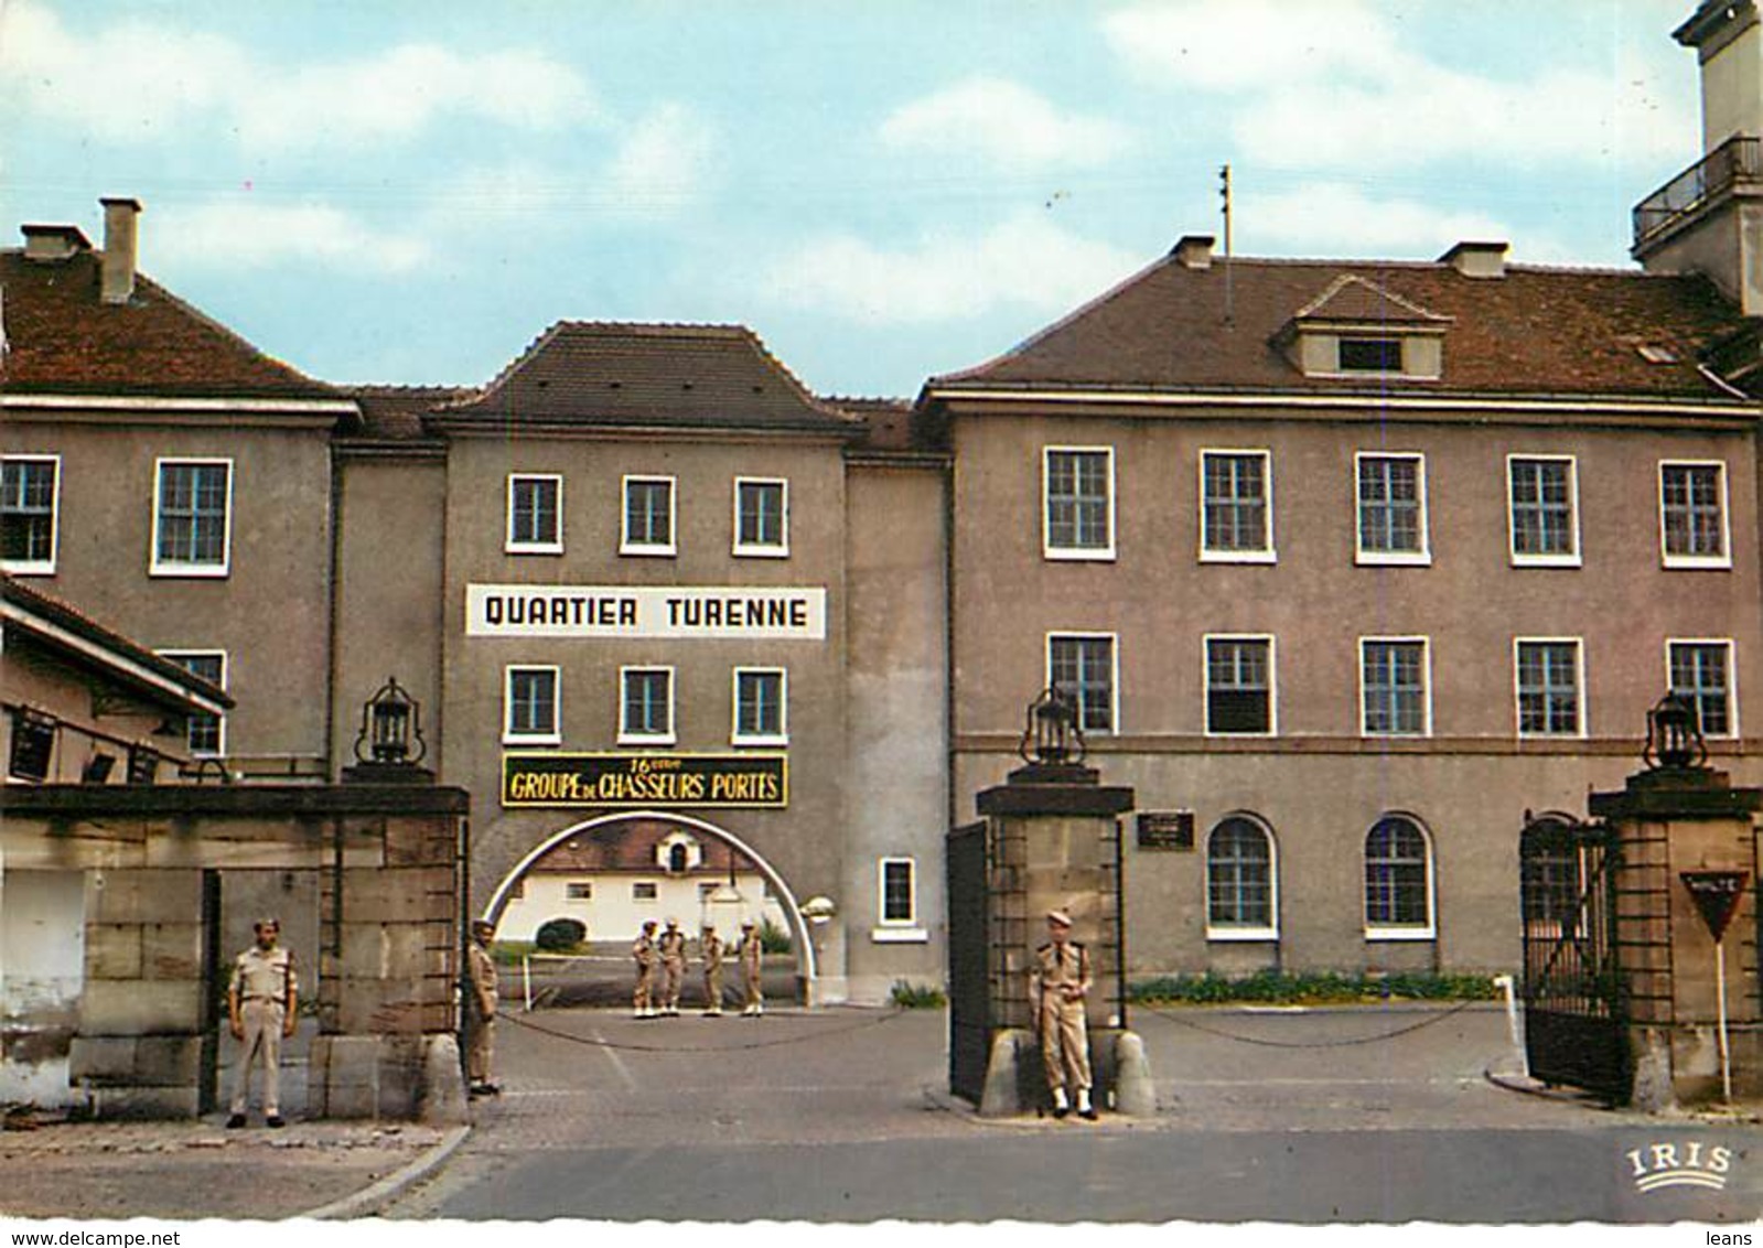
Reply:
[[[1497, 1088], [1486, 1072], [1514, 1058], [1504, 1015], [1484, 1008], [1139, 1012], [1160, 1112], [1095, 1126], [984, 1121], [950, 1100], [941, 1014], [638, 1024], [559, 1010], [527, 1022], [545, 1031], [502, 1026], [504, 1096], [480, 1102], [472, 1140], [391, 1216], [1731, 1223], [1763, 1213], [1754, 1121], [1648, 1119]], [[1724, 1170], [1712, 1169], [1715, 1148]], [[1698, 1185], [1640, 1181], [1636, 1170], [1657, 1169]]]

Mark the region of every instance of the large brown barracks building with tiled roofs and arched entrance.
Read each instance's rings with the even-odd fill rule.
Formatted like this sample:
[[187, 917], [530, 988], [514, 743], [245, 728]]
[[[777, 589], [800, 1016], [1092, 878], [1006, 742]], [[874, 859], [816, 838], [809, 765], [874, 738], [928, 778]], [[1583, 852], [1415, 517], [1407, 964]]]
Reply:
[[108, 201], [102, 252], [0, 254], [4, 568], [226, 689], [187, 746], [233, 777], [337, 779], [395, 677], [476, 913], [663, 828], [751, 862], [811, 999], [934, 982], [943, 836], [1060, 686], [1139, 795], [1134, 973], [1507, 969], [1525, 813], [1620, 786], [1666, 689], [1758, 783], [1758, 32], [1677, 32], [1707, 155], [1636, 210], [1645, 270], [1188, 236], [915, 404], [740, 326], [326, 386], [141, 277]]

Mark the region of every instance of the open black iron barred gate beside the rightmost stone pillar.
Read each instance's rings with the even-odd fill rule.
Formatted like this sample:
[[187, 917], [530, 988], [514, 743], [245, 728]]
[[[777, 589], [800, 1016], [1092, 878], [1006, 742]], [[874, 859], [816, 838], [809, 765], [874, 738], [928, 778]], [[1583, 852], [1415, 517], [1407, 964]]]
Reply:
[[1625, 1103], [1634, 1058], [1627, 982], [1617, 961], [1615, 830], [1534, 818], [1520, 836], [1518, 860], [1530, 1073]]

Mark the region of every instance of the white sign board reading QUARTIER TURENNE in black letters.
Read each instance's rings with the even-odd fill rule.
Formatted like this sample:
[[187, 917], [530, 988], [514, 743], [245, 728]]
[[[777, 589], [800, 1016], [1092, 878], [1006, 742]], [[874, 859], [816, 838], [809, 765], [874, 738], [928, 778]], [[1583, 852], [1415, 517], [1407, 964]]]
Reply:
[[827, 638], [827, 591], [777, 585], [467, 585], [465, 636]]

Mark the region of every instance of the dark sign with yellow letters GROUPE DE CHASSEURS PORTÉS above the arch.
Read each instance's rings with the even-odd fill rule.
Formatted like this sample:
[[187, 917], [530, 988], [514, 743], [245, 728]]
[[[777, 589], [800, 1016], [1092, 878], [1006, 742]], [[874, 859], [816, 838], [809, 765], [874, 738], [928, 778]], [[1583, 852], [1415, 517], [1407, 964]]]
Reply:
[[502, 754], [502, 806], [790, 804], [785, 754]]

